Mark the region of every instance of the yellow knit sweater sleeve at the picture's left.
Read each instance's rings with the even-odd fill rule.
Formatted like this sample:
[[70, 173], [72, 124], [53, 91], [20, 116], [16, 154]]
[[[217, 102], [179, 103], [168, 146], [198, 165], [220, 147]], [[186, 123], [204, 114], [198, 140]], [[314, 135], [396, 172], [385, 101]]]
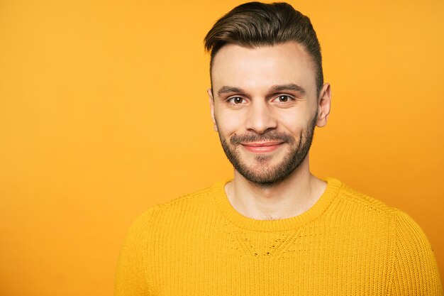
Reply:
[[145, 253], [153, 209], [138, 217], [126, 234], [118, 258], [115, 296], [150, 295]]

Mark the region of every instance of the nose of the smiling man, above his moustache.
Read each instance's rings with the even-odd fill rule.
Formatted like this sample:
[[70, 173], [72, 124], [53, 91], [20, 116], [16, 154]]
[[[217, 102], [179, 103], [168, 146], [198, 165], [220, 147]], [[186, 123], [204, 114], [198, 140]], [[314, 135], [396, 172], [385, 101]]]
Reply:
[[247, 112], [245, 128], [255, 133], [266, 133], [277, 127], [277, 120], [267, 102], [255, 100]]

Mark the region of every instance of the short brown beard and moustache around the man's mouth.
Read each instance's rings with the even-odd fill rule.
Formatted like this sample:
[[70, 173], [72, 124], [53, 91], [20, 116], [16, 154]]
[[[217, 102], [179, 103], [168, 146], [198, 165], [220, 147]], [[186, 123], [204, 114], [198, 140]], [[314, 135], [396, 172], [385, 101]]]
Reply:
[[[273, 187], [287, 179], [287, 177], [289, 177], [289, 175], [291, 175], [306, 158], [311, 147], [311, 142], [313, 141], [317, 117], [318, 114], [316, 112], [313, 119], [311, 119], [309, 126], [301, 132], [297, 141], [288, 133], [282, 133], [276, 130], [267, 131], [262, 134], [254, 132], [245, 133], [243, 135], [234, 134], [228, 139], [228, 141], [226, 138], [223, 138], [219, 132], [219, 139], [221, 140], [223, 151], [228, 160], [230, 160], [230, 163], [240, 175], [243, 175], [246, 180], [258, 187]], [[272, 159], [272, 155], [255, 155], [256, 163], [254, 165], [247, 165], [243, 162], [240, 152], [236, 150], [236, 148], [241, 143], [262, 141], [282, 141], [289, 145], [289, 152], [277, 165], [270, 165], [269, 160]]]

